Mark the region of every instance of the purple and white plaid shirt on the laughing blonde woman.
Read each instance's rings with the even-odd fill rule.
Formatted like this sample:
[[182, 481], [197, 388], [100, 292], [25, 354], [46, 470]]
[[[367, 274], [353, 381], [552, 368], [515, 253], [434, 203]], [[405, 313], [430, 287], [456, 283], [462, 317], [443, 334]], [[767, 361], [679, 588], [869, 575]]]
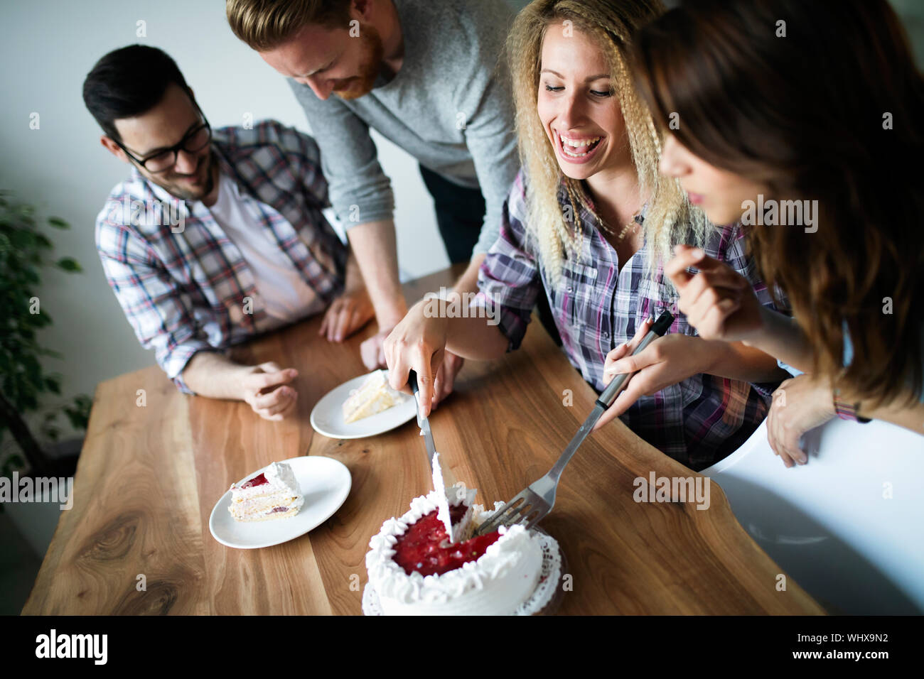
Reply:
[[[669, 310], [675, 315], [670, 333], [696, 335], [686, 316], [677, 310], [676, 296], [670, 293], [660, 268], [653, 280], [644, 275], [648, 244], [620, 270], [615, 249], [602, 237], [587, 211], [581, 210], [579, 215], [584, 235], [580, 261], [566, 260], [561, 285], [550, 285], [538, 263], [535, 239], [526, 237], [524, 182], [521, 170], [505, 203], [501, 236], [481, 264], [480, 292], [473, 302], [497, 313], [498, 327], [509, 340], [508, 350], [522, 342], [531, 310], [543, 288], [565, 354], [598, 392], [605, 387], [602, 377], [607, 353], [630, 340], [645, 319]], [[563, 208], [568, 204], [564, 188], [559, 192], [559, 202]], [[748, 278], [761, 304], [773, 308], [754, 262], [745, 255], [740, 227], [716, 228], [704, 249]], [[621, 418], [663, 453], [699, 470], [729, 455], [748, 439], [766, 417], [776, 386], [694, 375], [656, 394], [642, 396]]]

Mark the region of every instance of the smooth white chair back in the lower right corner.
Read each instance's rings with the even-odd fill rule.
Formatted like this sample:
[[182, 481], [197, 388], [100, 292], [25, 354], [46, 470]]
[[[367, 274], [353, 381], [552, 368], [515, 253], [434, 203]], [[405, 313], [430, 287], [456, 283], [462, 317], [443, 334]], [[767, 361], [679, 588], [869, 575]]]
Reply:
[[805, 440], [808, 464], [787, 469], [764, 422], [702, 474], [828, 612], [924, 613], [924, 436], [835, 418]]

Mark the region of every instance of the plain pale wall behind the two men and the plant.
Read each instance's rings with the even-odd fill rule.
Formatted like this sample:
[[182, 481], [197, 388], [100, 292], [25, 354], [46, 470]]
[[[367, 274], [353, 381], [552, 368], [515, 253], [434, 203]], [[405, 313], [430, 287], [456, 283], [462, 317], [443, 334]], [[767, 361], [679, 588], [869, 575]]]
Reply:
[[[146, 22], [147, 37], [136, 35]], [[51, 234], [55, 254], [75, 257], [84, 273], [49, 271], [40, 291], [54, 325], [41, 339], [64, 360], [46, 369], [64, 377], [67, 395], [92, 394], [97, 382], [153, 364], [140, 348], [106, 285], [93, 244], [93, 222], [113, 186], [128, 174], [99, 143], [100, 130], [83, 105], [83, 79], [102, 55], [134, 42], [176, 59], [213, 127], [240, 125], [243, 115], [274, 117], [310, 131], [285, 80], [239, 42], [218, 0], [29, 0], [0, 3], [0, 188], [59, 215], [72, 230]], [[40, 128], [30, 129], [30, 114]], [[376, 137], [395, 188], [398, 251], [409, 277], [448, 265], [432, 199], [418, 165]], [[26, 300], [23, 303], [27, 303]]]

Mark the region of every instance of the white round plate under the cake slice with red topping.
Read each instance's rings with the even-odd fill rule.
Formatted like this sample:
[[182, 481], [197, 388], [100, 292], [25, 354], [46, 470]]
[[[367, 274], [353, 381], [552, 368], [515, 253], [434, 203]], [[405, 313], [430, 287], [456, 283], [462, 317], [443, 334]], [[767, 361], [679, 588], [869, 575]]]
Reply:
[[[215, 540], [238, 550], [272, 547], [281, 542], [294, 540], [321, 526], [340, 509], [353, 484], [349, 469], [343, 463], [321, 455], [293, 457], [284, 462], [292, 467], [298, 488], [305, 496], [305, 503], [298, 510], [298, 514], [274, 521], [237, 522], [228, 512], [231, 491], [227, 491], [215, 504], [209, 517], [209, 530], [212, 531]], [[244, 479], [256, 476], [265, 468], [248, 474]], [[238, 483], [244, 479], [238, 480]]]

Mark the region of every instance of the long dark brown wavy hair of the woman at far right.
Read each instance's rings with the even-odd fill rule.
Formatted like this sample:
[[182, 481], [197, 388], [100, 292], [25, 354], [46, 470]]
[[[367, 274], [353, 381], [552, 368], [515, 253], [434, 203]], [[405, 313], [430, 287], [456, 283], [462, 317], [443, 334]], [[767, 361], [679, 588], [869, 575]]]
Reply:
[[888, 3], [698, 0], [634, 44], [642, 97], [665, 128], [679, 115], [671, 131], [690, 152], [769, 198], [818, 200], [814, 233], [747, 229], [763, 280], [808, 335], [813, 371], [874, 405], [920, 394], [924, 189], [912, 168], [924, 79]]

